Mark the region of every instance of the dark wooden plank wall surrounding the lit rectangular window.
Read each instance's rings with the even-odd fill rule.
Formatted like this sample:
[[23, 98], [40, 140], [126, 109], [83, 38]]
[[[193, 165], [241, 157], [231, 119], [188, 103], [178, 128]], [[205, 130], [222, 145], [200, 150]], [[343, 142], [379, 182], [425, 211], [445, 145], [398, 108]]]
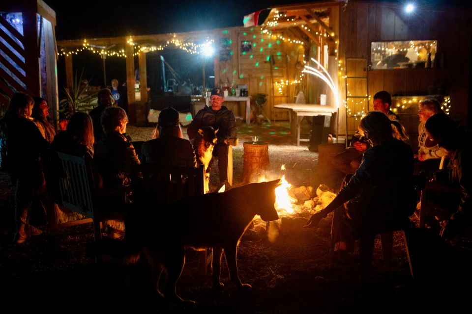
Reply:
[[[469, 8], [424, 5], [408, 15], [396, 3], [349, 1], [341, 10], [339, 57], [364, 58], [369, 64], [373, 41], [437, 40], [440, 68], [368, 71], [369, 95], [380, 90], [425, 95], [439, 89], [451, 96], [452, 118], [470, 127], [471, 21]], [[344, 88], [341, 93], [344, 97]]]

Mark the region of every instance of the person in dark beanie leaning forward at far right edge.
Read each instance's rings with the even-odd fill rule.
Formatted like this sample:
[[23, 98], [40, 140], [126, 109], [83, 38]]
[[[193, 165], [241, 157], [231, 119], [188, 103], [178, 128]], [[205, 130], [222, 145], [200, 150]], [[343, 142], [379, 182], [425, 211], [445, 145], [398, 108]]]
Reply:
[[446, 239], [453, 239], [462, 229], [472, 225], [472, 132], [457, 126], [458, 123], [444, 113], [433, 115], [425, 125], [431, 138], [449, 152], [448, 167], [462, 193], [459, 207], [453, 209], [455, 212], [442, 223], [441, 236]]

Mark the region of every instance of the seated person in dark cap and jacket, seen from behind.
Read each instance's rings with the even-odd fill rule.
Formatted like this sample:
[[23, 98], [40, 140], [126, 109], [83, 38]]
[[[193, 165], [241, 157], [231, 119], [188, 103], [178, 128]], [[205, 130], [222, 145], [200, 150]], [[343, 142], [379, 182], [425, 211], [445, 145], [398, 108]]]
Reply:
[[141, 148], [141, 161], [168, 166], [197, 167], [193, 146], [182, 136], [176, 109], [167, 107], [161, 111], [154, 139], [145, 142]]

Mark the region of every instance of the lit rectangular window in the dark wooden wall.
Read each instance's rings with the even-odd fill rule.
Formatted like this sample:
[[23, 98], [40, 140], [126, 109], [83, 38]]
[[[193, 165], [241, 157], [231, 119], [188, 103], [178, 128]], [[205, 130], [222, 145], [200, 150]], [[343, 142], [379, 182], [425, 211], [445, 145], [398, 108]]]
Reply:
[[437, 46], [437, 40], [372, 42], [372, 69], [433, 67]]

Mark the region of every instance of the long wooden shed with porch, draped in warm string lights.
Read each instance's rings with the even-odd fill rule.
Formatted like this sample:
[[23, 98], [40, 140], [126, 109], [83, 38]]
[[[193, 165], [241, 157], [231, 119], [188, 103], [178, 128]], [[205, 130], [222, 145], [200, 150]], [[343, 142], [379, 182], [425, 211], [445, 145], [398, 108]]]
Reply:
[[[264, 106], [272, 119], [288, 119], [287, 111], [274, 105], [294, 103], [300, 91], [308, 104], [319, 104], [324, 94], [328, 104], [333, 102], [324, 81], [302, 72], [315, 58], [338, 87], [341, 107], [333, 121], [339, 125], [332, 127], [339, 134], [355, 131], [359, 118], [372, 108], [372, 96], [381, 90], [394, 96], [392, 109], [413, 139], [417, 102], [426, 97], [440, 99], [453, 118], [470, 125], [470, 8], [422, 6], [407, 12], [399, 3], [350, 0], [269, 10], [260, 26], [59, 41], [58, 45], [66, 57], [69, 80], [72, 62], [67, 58], [83, 49], [126, 56], [130, 118], [137, 122], [145, 119], [146, 52], [174, 45], [198, 53], [211, 39], [216, 50], [215, 84], [245, 84], [252, 101], [257, 94], [266, 94]], [[112, 46], [113, 50], [91, 48]], [[383, 59], [400, 52], [409, 56], [408, 62], [382, 65]], [[136, 56], [141, 73], [140, 102], [135, 101], [134, 90], [132, 61]]]

